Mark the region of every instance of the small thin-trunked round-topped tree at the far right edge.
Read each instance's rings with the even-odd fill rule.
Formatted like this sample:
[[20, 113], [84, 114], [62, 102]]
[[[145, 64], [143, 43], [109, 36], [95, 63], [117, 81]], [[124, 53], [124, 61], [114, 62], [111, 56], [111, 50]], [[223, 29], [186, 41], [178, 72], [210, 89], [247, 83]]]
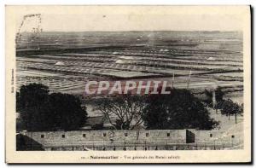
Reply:
[[[237, 114], [243, 113], [243, 106], [239, 106], [238, 103], [233, 102], [231, 99], [222, 101], [222, 103], [219, 106], [220, 106], [221, 113], [229, 116], [229, 120], [230, 120], [230, 115], [235, 115], [235, 119], [236, 119]], [[237, 123], [237, 120], [236, 120], [236, 123]]]

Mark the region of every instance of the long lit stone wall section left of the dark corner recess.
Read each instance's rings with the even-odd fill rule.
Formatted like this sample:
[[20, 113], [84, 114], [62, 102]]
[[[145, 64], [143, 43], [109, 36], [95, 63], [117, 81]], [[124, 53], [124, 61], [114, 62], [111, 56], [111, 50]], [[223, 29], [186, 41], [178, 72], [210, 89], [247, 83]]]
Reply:
[[[189, 130], [76, 130], [21, 132], [44, 148], [102, 148], [111, 147], [119, 150], [134, 148], [152, 149], [167, 144], [193, 142], [187, 137]], [[190, 133], [193, 134], [193, 133]], [[189, 135], [190, 135], [189, 134]], [[195, 136], [194, 136], [195, 137]], [[194, 138], [192, 136], [192, 138]], [[160, 147], [159, 147], [160, 148]], [[108, 150], [108, 148], [106, 148]]]

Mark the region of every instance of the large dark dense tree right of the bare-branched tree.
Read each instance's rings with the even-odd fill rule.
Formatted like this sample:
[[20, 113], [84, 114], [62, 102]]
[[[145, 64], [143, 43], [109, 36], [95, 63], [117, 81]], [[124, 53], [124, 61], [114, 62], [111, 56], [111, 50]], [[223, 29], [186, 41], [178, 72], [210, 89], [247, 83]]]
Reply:
[[218, 122], [189, 90], [168, 89], [170, 95], [149, 95], [143, 110], [144, 125], [149, 130], [211, 130]]

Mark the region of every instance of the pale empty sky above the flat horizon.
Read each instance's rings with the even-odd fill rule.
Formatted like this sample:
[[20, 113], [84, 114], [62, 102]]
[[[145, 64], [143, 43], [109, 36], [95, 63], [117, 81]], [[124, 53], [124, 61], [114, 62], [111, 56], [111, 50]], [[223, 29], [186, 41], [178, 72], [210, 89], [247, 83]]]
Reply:
[[[76, 9], [76, 8], [74, 8]], [[186, 9], [171, 8], [160, 10], [131, 9], [125, 12], [115, 8], [98, 10], [81, 10], [70, 12], [45, 9], [41, 12], [41, 23], [36, 18], [25, 20], [21, 32], [31, 31], [32, 27], [43, 28], [44, 32], [87, 32], [87, 31], [241, 31], [243, 17], [239, 10], [234, 12], [221, 12], [214, 9], [196, 12], [187, 12]], [[173, 9], [173, 10], [172, 10]], [[124, 9], [125, 10], [125, 9]], [[40, 10], [38, 10], [40, 11]], [[37, 12], [38, 12], [37, 11]], [[229, 9], [227, 9], [229, 11]], [[24, 14], [19, 14], [19, 26]], [[17, 26], [17, 27], [18, 27]]]

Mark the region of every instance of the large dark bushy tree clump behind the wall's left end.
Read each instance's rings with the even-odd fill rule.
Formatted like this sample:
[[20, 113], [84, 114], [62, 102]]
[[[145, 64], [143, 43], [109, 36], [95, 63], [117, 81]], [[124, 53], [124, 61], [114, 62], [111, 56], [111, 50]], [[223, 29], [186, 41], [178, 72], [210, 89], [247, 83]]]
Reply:
[[77, 130], [87, 119], [79, 98], [68, 94], [50, 94], [43, 84], [21, 86], [16, 99], [21, 123], [29, 131]]

